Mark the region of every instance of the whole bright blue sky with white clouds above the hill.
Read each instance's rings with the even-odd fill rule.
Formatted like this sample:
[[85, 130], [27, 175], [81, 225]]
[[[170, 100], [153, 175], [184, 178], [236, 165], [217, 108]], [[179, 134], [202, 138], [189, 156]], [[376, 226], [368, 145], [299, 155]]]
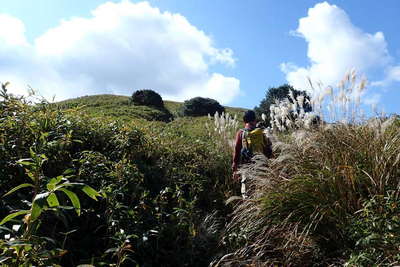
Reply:
[[251, 108], [269, 87], [335, 85], [354, 67], [364, 102], [400, 113], [397, 0], [112, 2], [2, 1], [0, 81], [59, 99], [145, 87]]

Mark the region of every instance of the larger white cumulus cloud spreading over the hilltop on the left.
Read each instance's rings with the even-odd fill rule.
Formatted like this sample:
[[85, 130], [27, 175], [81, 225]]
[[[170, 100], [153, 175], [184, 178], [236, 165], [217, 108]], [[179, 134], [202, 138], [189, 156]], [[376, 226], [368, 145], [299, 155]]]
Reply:
[[[58, 99], [95, 93], [131, 94], [151, 88], [183, 100], [205, 96], [229, 103], [240, 81], [212, 73], [235, 64], [233, 51], [180, 14], [147, 2], [107, 2], [89, 18], [63, 20], [30, 44], [23, 23], [0, 15], [0, 80], [30, 84]], [[11, 45], [9, 45], [11, 44]]]

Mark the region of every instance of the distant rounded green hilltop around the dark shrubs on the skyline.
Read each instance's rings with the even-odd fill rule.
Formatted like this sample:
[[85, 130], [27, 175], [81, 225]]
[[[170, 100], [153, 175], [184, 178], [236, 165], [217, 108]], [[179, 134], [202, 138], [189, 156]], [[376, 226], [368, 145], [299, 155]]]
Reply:
[[[147, 106], [133, 105], [128, 96], [120, 95], [92, 95], [69, 99], [58, 102], [62, 108], [79, 108], [94, 117], [110, 117], [114, 119], [129, 121], [132, 119], [163, 120], [166, 111]], [[181, 102], [164, 101], [167, 111], [174, 117], [178, 117]], [[244, 111], [242, 108], [225, 107], [226, 112], [238, 114]]]

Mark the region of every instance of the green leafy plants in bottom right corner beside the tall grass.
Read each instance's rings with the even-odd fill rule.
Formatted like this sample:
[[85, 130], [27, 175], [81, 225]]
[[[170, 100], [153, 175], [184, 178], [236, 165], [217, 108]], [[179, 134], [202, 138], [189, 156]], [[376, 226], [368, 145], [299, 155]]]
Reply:
[[349, 218], [348, 235], [355, 249], [347, 266], [393, 266], [400, 262], [400, 200], [398, 191], [376, 195]]

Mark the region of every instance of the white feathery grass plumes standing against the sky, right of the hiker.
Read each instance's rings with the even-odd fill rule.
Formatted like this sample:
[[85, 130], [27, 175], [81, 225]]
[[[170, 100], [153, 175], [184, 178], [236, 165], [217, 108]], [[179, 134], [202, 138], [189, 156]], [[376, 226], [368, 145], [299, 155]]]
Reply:
[[[276, 131], [292, 129], [310, 129], [321, 121], [342, 124], [361, 123], [365, 114], [361, 108], [361, 96], [366, 90], [367, 80], [359, 79], [355, 70], [346, 73], [337, 88], [314, 85], [310, 80], [311, 98], [304, 95], [294, 97], [292, 91], [286, 99], [276, 101], [270, 107], [270, 124]], [[305, 105], [310, 104], [312, 112], [305, 112]]]

